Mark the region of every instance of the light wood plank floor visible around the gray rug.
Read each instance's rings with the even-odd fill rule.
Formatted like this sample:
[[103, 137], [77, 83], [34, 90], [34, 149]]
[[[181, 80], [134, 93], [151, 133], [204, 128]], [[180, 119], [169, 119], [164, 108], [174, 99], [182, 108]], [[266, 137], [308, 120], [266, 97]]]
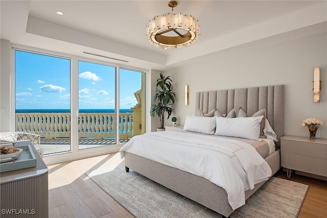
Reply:
[[[120, 154], [113, 153], [49, 165], [49, 217], [133, 217], [84, 174], [120, 162]], [[283, 171], [275, 176], [287, 179]], [[327, 217], [327, 182], [299, 175], [291, 180], [310, 186], [298, 217]]]

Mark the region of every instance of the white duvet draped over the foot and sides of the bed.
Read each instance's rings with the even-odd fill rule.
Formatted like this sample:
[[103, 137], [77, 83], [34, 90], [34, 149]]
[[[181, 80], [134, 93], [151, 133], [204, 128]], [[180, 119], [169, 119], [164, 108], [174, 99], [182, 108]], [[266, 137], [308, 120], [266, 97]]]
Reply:
[[185, 132], [152, 132], [131, 138], [121, 149], [204, 177], [224, 188], [233, 209], [245, 204], [244, 191], [268, 180], [268, 163], [248, 143]]

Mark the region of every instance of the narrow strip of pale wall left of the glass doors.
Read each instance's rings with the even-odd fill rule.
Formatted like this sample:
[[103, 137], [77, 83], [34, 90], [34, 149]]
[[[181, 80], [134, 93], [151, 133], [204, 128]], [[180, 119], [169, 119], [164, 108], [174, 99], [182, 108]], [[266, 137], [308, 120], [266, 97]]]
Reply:
[[1, 39], [0, 43], [0, 132], [10, 131], [10, 41]]

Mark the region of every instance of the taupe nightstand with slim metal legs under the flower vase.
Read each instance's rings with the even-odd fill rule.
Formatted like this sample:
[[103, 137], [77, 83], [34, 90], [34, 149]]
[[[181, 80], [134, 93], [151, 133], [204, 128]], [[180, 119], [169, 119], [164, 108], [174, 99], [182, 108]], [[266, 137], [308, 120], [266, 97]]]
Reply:
[[296, 171], [327, 177], [327, 140], [309, 137], [281, 137], [281, 166]]

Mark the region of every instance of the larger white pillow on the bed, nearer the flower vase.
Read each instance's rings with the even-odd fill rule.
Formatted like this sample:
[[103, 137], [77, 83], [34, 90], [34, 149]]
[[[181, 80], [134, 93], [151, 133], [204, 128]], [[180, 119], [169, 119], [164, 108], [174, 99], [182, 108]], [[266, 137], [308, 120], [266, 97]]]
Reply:
[[264, 116], [256, 117], [216, 117], [215, 135], [259, 140], [260, 122]]

